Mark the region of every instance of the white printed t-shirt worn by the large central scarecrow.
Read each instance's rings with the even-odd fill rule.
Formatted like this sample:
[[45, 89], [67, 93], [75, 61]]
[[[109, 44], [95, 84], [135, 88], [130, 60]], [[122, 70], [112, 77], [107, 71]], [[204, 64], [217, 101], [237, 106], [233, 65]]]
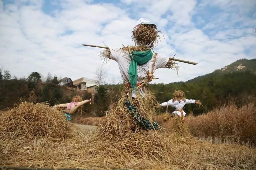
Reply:
[[[129, 67], [130, 67], [132, 59], [129, 56], [128, 52], [126, 52], [126, 51], [121, 52], [121, 51], [122, 51], [122, 49], [120, 49], [120, 48], [110, 48], [110, 53], [111, 53], [110, 59], [115, 60], [118, 63], [119, 70], [120, 70], [123, 80], [126, 82], [129, 82], [128, 71], [129, 71]], [[153, 53], [153, 56], [154, 56], [154, 54], [155, 53]], [[169, 60], [169, 57], [162, 56], [162, 55], [158, 54], [156, 56], [154, 71], [159, 68], [164, 68], [165, 65], [167, 64], [168, 60]], [[145, 79], [147, 78], [147, 70], [149, 70], [151, 72], [153, 62], [154, 62], [154, 57], [152, 57], [152, 59], [149, 60], [147, 63], [138, 65], [138, 67], [137, 67], [137, 83], [145, 82]], [[146, 92], [145, 88], [140, 87], [137, 90], [137, 93], [138, 92], [143, 97], [145, 97], [145, 92]], [[127, 93], [127, 95], [129, 95], [129, 92]], [[134, 91], [132, 91], [132, 97], [136, 98], [136, 94], [134, 93]]]

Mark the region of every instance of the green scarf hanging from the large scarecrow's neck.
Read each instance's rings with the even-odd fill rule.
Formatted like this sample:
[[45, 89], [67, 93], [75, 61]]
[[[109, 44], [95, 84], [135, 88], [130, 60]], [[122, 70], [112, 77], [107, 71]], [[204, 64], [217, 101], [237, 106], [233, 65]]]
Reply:
[[149, 60], [152, 59], [153, 53], [151, 50], [147, 51], [133, 51], [130, 53], [130, 57], [132, 58], [130, 67], [129, 67], [129, 77], [132, 89], [136, 89], [137, 85], [137, 66], [145, 64]]

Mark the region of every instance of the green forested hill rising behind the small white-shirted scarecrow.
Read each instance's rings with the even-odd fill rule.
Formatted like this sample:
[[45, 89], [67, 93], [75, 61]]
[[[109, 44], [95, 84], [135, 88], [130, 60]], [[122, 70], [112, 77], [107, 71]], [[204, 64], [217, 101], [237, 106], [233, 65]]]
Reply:
[[185, 91], [188, 99], [201, 100], [204, 107], [200, 110], [192, 104], [186, 108], [187, 111], [194, 109], [195, 114], [223, 104], [231, 96], [243, 102], [249, 95], [256, 95], [256, 59], [237, 60], [224, 68], [187, 82], [150, 84], [149, 88], [156, 93], [158, 102], [170, 100], [175, 89]]

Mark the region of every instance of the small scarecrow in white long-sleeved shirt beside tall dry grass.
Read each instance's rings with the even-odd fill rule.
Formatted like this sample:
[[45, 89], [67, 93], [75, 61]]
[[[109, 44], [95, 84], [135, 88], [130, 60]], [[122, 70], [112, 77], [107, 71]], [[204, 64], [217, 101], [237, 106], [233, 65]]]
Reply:
[[182, 118], [182, 121], [184, 122], [184, 116], [186, 115], [186, 113], [183, 110], [183, 107], [185, 106], [185, 104], [189, 104], [189, 103], [196, 103], [199, 105], [199, 107], [201, 106], [201, 101], [200, 100], [194, 100], [194, 99], [185, 99], [185, 93], [184, 91], [181, 90], [175, 90], [174, 92], [174, 98], [169, 100], [168, 102], [163, 102], [161, 104], [159, 104], [157, 106], [157, 108], [162, 108], [164, 106], [171, 106], [176, 108], [174, 112], [172, 112], [172, 114], [170, 114], [171, 116], [175, 116], [175, 115], [179, 115]]

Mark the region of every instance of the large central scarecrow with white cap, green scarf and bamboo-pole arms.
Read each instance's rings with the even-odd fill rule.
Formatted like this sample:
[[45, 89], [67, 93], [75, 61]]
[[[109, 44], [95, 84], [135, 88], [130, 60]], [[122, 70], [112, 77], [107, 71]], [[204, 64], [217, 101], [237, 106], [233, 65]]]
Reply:
[[152, 119], [156, 101], [146, 86], [153, 79], [158, 79], [153, 76], [154, 71], [159, 68], [177, 69], [174, 60], [197, 64], [153, 52], [152, 49], [160, 38], [158, 32], [160, 31], [157, 30], [155, 24], [146, 18], [141, 18], [136, 22], [132, 31], [132, 40], [135, 42], [135, 46], [110, 48], [83, 44], [84, 46], [106, 48], [101, 52], [101, 57], [118, 63], [122, 79], [126, 82], [124, 85], [126, 100], [122, 101], [122, 104], [132, 113], [137, 125], [143, 129], [158, 129], [157, 123], [149, 120]]

